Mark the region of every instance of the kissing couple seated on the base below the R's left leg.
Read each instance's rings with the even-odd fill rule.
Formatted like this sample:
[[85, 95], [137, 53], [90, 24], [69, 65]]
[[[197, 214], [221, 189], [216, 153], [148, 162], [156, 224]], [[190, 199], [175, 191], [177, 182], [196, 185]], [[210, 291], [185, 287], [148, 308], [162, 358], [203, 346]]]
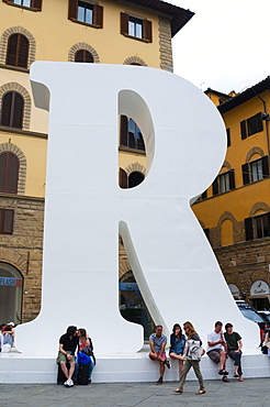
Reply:
[[[76, 359], [77, 352], [77, 359]], [[56, 363], [60, 366], [66, 381], [66, 387], [77, 382], [80, 364], [89, 365], [88, 383], [91, 382], [92, 370], [95, 364], [93, 344], [85, 328], [70, 326], [59, 339], [59, 350]]]

